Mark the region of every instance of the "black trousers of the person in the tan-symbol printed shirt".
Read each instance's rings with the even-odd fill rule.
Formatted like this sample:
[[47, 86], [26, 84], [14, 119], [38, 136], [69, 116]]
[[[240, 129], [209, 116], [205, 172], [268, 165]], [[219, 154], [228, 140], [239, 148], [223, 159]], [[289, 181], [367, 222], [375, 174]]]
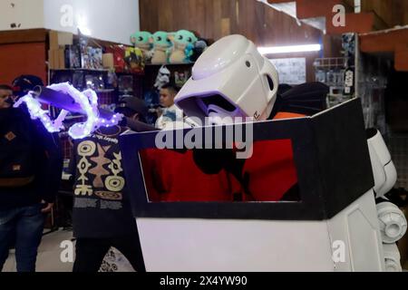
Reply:
[[78, 238], [73, 272], [98, 272], [103, 258], [111, 247], [117, 248], [129, 260], [135, 271], [146, 272], [141, 254], [141, 242], [137, 235], [113, 238]]

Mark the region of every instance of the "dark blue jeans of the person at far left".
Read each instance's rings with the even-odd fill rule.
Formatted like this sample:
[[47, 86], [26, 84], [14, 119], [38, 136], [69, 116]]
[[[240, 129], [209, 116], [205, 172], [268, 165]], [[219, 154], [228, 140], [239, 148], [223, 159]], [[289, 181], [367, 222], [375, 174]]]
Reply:
[[0, 210], [0, 271], [15, 243], [18, 272], [34, 272], [44, 230], [42, 205]]

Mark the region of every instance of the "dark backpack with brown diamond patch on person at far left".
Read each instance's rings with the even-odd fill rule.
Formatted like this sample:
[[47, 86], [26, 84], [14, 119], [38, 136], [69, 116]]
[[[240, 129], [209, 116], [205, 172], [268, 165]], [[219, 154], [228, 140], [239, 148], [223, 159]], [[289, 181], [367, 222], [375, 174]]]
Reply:
[[34, 181], [34, 135], [24, 111], [0, 110], [0, 188], [20, 188]]

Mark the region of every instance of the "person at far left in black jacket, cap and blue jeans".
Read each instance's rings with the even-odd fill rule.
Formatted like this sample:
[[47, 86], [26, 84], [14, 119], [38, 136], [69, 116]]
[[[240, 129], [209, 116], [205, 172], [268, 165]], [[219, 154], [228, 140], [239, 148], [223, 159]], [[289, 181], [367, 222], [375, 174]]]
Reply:
[[[15, 84], [23, 95], [42, 82], [24, 76]], [[57, 136], [32, 121], [25, 108], [13, 108], [10, 89], [0, 86], [0, 270], [15, 243], [17, 271], [34, 272], [63, 160]]]

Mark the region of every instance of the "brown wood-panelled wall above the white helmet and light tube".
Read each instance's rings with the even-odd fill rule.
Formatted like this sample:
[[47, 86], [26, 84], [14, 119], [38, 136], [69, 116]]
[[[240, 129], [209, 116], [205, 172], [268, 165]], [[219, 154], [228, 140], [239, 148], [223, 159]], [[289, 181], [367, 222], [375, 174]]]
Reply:
[[[188, 29], [214, 41], [228, 34], [242, 34], [258, 46], [323, 43], [319, 30], [299, 26], [294, 18], [256, 0], [140, 0], [140, 13], [141, 30], [150, 32]], [[340, 56], [333, 49], [329, 53]], [[315, 79], [313, 63], [320, 53], [273, 57], [305, 56], [307, 81], [311, 82]]]

